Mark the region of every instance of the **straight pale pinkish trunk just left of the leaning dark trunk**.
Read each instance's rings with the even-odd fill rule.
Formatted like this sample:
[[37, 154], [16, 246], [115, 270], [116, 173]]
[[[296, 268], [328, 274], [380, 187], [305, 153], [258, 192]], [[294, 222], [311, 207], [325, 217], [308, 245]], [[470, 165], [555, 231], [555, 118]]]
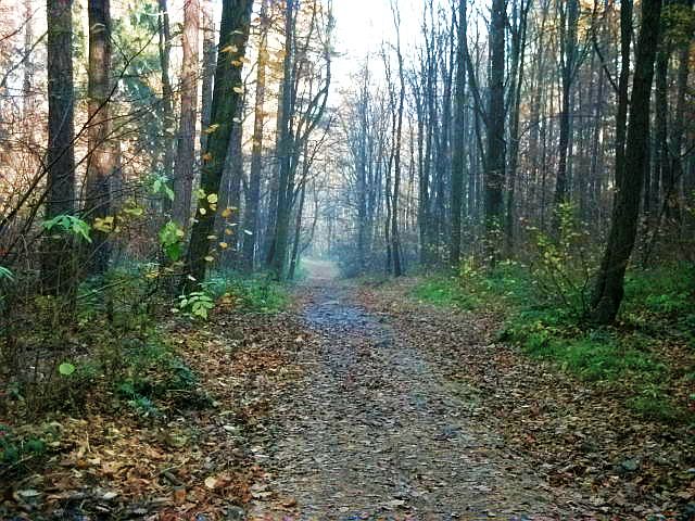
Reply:
[[[191, 194], [195, 177], [195, 115], [198, 113], [198, 33], [200, 7], [198, 0], [184, 3], [184, 56], [181, 63], [181, 113], [176, 140], [174, 168], [174, 220], [188, 229]], [[206, 129], [203, 129], [206, 130]]]

